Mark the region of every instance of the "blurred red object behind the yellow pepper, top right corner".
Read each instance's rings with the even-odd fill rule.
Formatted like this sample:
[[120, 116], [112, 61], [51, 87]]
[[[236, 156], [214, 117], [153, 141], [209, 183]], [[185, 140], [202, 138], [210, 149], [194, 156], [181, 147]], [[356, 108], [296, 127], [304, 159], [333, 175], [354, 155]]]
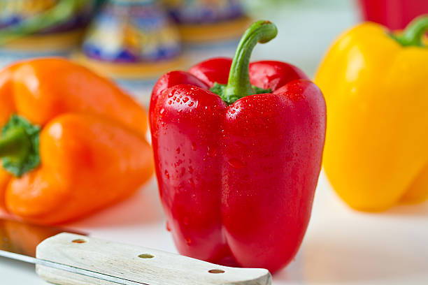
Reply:
[[428, 13], [428, 0], [359, 0], [364, 20], [389, 29], [404, 29], [415, 17]]

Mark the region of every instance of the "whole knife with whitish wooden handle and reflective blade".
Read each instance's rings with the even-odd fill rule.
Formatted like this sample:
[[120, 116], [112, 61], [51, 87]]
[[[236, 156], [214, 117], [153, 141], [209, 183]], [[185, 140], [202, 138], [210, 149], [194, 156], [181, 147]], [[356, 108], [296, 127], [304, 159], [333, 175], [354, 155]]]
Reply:
[[0, 256], [36, 265], [64, 285], [270, 285], [262, 268], [231, 268], [157, 249], [90, 238], [65, 228], [0, 219]]

